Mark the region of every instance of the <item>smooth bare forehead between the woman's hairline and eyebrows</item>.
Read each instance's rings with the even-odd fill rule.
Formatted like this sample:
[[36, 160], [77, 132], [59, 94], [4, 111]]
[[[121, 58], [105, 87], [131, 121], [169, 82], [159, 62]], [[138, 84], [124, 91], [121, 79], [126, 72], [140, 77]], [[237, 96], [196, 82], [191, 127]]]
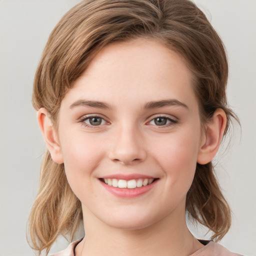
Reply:
[[[105, 46], [74, 82], [63, 101], [80, 98], [137, 102], [176, 98], [195, 100], [185, 61], [158, 41], [134, 39]], [[121, 102], [120, 102], [121, 101]], [[134, 103], [134, 102], [133, 102]]]

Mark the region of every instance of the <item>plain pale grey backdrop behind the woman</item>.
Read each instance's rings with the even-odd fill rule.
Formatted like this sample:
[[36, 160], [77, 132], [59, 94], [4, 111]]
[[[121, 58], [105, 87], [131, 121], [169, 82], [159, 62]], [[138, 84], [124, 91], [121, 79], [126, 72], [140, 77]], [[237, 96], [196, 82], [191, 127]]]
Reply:
[[[0, 0], [0, 256], [31, 256], [26, 224], [36, 194], [43, 139], [31, 105], [33, 76], [47, 37], [78, 0]], [[256, 255], [256, 1], [196, 0], [229, 59], [228, 99], [241, 122], [215, 160], [233, 212], [221, 240]], [[203, 238], [204, 230], [191, 226]], [[81, 234], [80, 234], [81, 235]], [[79, 234], [78, 234], [79, 236]], [[65, 248], [59, 239], [51, 252]]]

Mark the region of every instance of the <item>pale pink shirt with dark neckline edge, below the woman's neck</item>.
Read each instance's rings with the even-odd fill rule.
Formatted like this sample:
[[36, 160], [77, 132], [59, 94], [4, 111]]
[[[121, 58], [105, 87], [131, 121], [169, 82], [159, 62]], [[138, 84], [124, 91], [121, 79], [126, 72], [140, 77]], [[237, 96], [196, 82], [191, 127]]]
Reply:
[[[71, 242], [66, 249], [54, 253], [51, 256], [75, 256], [75, 246], [81, 241], [81, 239]], [[219, 243], [204, 240], [199, 241], [205, 245], [189, 256], [242, 256], [229, 251]]]

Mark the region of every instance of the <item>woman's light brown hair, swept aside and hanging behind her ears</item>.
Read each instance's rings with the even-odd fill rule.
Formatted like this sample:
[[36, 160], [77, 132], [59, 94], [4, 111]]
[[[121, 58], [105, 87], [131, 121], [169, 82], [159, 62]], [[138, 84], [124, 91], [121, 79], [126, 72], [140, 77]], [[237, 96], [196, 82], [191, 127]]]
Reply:
[[[235, 117], [227, 106], [227, 59], [216, 31], [190, 0], [83, 0], [71, 8], [51, 32], [42, 53], [33, 86], [36, 110], [45, 107], [57, 126], [61, 100], [105, 45], [138, 37], [160, 41], [183, 57], [194, 77], [202, 122], [217, 108]], [[186, 210], [221, 239], [230, 227], [231, 215], [216, 181], [212, 163], [196, 165], [187, 193]], [[29, 227], [32, 247], [41, 252], [59, 234], [78, 226], [81, 205], [68, 185], [64, 165], [53, 162], [46, 151], [40, 171], [38, 194]]]

